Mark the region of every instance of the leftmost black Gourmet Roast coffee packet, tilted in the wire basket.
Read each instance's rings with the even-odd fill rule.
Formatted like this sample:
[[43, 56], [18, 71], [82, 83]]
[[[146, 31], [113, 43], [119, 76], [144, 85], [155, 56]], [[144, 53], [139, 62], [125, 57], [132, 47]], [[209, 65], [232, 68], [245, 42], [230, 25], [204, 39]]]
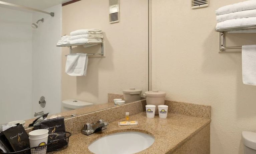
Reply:
[[20, 151], [30, 147], [28, 134], [22, 125], [11, 127], [3, 131], [3, 134], [14, 151]]

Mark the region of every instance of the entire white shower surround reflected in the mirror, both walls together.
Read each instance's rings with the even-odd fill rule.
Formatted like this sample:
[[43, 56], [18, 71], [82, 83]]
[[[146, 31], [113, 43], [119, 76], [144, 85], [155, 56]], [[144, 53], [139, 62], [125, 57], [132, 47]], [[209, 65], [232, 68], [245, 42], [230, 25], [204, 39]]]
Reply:
[[[55, 16], [0, 9], [0, 123], [58, 113], [61, 107], [61, 5], [45, 9]], [[44, 18], [37, 29], [31, 24]], [[39, 98], [45, 96], [41, 108]]]

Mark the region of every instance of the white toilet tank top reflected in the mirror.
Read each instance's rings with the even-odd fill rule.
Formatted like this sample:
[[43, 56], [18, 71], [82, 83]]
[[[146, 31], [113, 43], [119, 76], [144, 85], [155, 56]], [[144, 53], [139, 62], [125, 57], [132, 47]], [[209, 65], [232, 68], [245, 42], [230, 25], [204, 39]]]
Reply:
[[88, 107], [88, 106], [92, 106], [92, 105], [94, 105], [94, 104], [89, 103], [89, 102], [80, 101], [80, 100], [75, 100], [75, 99], [67, 99], [67, 100], [62, 101], [61, 112], [80, 109], [80, 108], [84, 108], [84, 107]]

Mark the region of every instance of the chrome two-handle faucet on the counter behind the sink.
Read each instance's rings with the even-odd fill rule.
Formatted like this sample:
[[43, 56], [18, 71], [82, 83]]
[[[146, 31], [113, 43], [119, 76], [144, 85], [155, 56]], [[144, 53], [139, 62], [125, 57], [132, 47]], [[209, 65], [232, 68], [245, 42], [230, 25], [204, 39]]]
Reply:
[[97, 123], [86, 123], [84, 125], [84, 128], [82, 130], [82, 133], [84, 135], [90, 135], [99, 131], [102, 131], [107, 128], [108, 122], [105, 122], [104, 120], [100, 119], [97, 121]]

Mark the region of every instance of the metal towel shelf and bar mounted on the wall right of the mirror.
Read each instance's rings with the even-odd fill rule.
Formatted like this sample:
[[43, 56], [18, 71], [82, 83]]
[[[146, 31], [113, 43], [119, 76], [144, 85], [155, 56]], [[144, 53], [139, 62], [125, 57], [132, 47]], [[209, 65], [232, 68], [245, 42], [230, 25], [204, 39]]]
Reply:
[[220, 51], [224, 52], [226, 49], [242, 49], [242, 46], [226, 47], [226, 44], [225, 44], [225, 32], [239, 31], [239, 30], [251, 30], [251, 29], [256, 29], [256, 25], [230, 27], [230, 28], [218, 28], [218, 29], [216, 29], [217, 32], [220, 32]]

